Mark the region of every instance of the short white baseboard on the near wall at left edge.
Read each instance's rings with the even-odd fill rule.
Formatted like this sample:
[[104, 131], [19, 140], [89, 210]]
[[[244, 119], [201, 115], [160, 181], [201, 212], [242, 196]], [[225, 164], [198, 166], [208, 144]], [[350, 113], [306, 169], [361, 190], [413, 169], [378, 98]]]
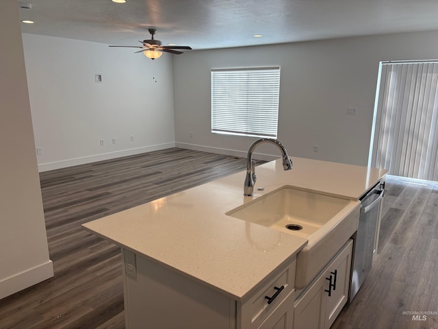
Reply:
[[53, 277], [53, 263], [48, 260], [46, 263], [0, 280], [0, 300], [51, 277]]

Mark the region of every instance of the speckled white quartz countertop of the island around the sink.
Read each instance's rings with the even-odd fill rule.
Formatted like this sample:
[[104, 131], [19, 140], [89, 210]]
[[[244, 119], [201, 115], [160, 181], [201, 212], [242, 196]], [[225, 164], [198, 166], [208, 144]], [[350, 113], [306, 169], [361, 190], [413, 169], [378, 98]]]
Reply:
[[[245, 171], [83, 224], [84, 228], [236, 300], [244, 300], [307, 239], [235, 219], [225, 212], [284, 185], [357, 199], [387, 171], [293, 158], [256, 168], [253, 197]], [[244, 169], [244, 168], [242, 168]], [[257, 191], [263, 186], [264, 191]]]

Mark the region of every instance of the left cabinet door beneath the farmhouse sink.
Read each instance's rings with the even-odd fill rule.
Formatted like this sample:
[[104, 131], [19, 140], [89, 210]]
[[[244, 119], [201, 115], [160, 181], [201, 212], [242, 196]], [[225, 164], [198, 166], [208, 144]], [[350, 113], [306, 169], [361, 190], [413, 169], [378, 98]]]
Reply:
[[294, 305], [295, 329], [324, 328], [326, 279], [320, 276], [306, 292], [296, 300]]

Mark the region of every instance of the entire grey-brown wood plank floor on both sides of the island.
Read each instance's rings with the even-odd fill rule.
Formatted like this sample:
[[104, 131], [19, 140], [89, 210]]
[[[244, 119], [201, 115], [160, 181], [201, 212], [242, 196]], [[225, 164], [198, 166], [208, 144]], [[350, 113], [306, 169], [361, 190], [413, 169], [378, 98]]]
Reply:
[[[81, 223], [245, 166], [175, 148], [41, 173], [55, 277], [0, 300], [0, 328], [125, 328], [120, 250]], [[438, 310], [438, 188], [388, 180], [384, 200], [372, 272], [332, 328], [438, 328], [402, 313]]]

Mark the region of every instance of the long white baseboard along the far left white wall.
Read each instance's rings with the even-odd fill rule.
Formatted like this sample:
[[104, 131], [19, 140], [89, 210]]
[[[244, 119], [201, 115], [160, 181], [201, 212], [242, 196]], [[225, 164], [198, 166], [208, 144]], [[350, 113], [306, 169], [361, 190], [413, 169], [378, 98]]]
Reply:
[[164, 143], [158, 145], [150, 145], [144, 147], [137, 147], [135, 149], [124, 149], [121, 151], [114, 151], [103, 154], [96, 154], [94, 156], [83, 156], [81, 158], [73, 158], [68, 160], [61, 160], [55, 162], [47, 162], [38, 164], [38, 171], [42, 173], [43, 171], [49, 171], [54, 169], [61, 169], [66, 167], [73, 167], [79, 164], [87, 164], [91, 162], [110, 160], [114, 158], [121, 158], [123, 156], [134, 156], [136, 154], [142, 154], [151, 151], [158, 151], [160, 149], [169, 149], [170, 147], [175, 147], [175, 143]]

